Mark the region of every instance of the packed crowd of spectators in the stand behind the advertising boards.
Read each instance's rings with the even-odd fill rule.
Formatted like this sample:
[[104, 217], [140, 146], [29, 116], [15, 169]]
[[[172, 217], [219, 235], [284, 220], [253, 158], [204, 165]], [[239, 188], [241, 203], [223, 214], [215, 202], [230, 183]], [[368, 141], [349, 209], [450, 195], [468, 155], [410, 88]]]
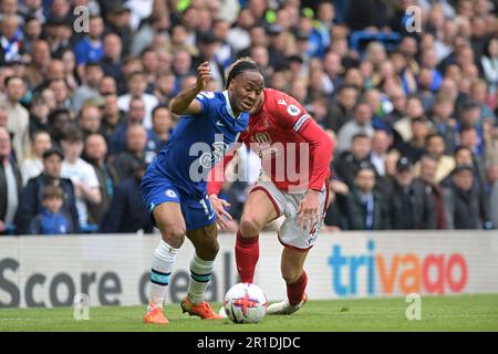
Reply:
[[[416, 8], [411, 8], [416, 6]], [[416, 9], [416, 11], [413, 11]], [[168, 103], [240, 56], [335, 142], [332, 230], [498, 227], [496, 0], [0, 0], [0, 235], [152, 232]], [[225, 183], [237, 228], [259, 158]], [[230, 171], [228, 171], [230, 174]]]

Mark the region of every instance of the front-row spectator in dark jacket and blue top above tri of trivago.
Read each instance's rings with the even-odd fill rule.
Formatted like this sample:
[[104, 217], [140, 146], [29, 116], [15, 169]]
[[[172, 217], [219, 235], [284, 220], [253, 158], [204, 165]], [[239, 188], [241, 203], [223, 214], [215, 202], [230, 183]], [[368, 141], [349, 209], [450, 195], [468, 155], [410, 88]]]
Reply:
[[347, 196], [347, 229], [383, 230], [385, 212], [382, 195], [375, 189], [375, 170], [371, 165], [363, 165]]

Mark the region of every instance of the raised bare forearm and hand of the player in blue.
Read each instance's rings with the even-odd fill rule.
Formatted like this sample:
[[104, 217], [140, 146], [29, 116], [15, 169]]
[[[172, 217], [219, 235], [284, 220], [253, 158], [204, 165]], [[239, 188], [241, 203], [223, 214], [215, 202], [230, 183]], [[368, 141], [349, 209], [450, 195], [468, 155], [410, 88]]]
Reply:
[[209, 63], [204, 62], [197, 67], [197, 82], [195, 85], [181, 90], [180, 93], [169, 103], [169, 110], [177, 115], [183, 114], [199, 114], [203, 112], [203, 106], [196, 100], [196, 95], [206, 90], [207, 83], [211, 77]]

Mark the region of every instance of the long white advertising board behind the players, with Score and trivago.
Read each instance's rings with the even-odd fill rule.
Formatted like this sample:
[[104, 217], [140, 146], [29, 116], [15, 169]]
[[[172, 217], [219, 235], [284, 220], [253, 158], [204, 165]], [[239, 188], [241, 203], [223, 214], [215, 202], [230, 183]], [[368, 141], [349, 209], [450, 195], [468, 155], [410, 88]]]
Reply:
[[[146, 302], [158, 235], [0, 238], [0, 308], [72, 305], [87, 294], [93, 305]], [[232, 235], [220, 251], [206, 294], [220, 301], [237, 282]], [[255, 283], [269, 300], [283, 299], [281, 244], [260, 237]], [[193, 252], [186, 241], [167, 290], [167, 302], [186, 293]], [[388, 231], [322, 233], [310, 251], [310, 299], [498, 293], [498, 231]]]

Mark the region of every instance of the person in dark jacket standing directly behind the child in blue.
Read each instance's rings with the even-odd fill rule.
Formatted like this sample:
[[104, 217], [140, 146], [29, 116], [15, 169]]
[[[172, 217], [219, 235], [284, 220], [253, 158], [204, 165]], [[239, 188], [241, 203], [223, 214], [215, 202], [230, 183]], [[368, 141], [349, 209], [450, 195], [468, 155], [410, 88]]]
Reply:
[[42, 211], [43, 190], [46, 186], [60, 187], [63, 190], [64, 202], [62, 208], [71, 216], [74, 232], [79, 231], [79, 216], [76, 209], [76, 196], [71, 179], [61, 177], [61, 166], [64, 154], [58, 147], [52, 147], [43, 153], [43, 173], [31, 178], [22, 189], [18, 212], [15, 215], [15, 228], [19, 235], [29, 231], [30, 221]]

